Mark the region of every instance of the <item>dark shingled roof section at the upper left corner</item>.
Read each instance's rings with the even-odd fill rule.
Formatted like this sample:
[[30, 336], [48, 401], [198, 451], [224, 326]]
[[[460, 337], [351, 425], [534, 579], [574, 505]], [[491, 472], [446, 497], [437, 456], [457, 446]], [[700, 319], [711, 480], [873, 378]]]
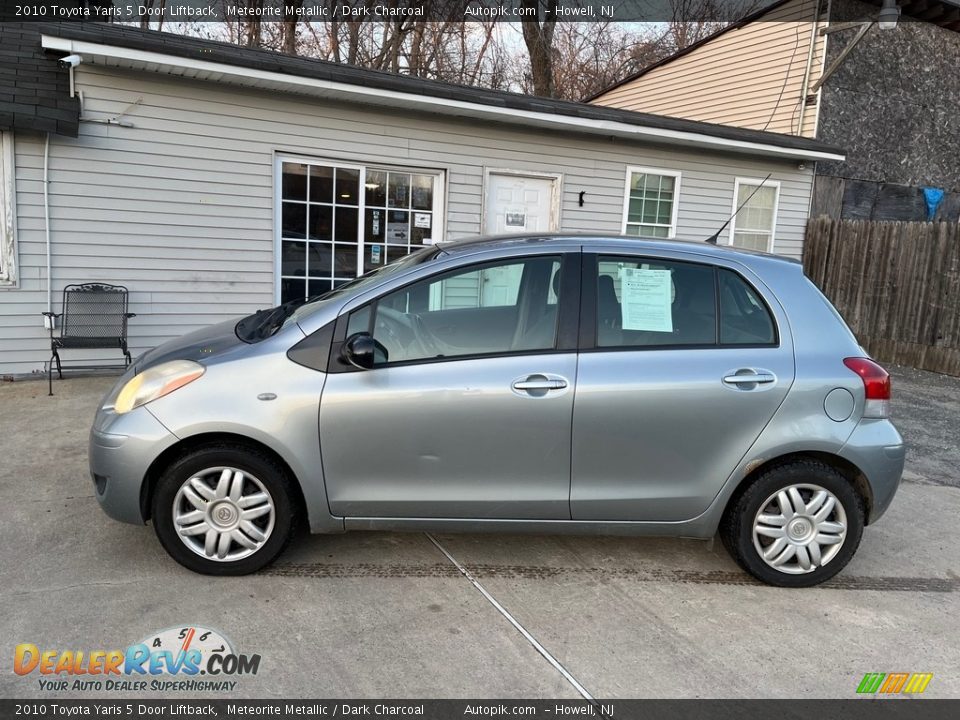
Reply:
[[70, 75], [40, 46], [35, 23], [0, 23], [0, 130], [36, 130], [76, 137], [80, 102]]

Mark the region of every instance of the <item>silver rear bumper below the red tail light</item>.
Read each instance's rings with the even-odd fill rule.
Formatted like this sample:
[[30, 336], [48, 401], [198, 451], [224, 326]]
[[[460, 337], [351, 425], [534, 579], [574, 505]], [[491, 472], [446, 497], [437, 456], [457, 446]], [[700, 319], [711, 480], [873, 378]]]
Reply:
[[839, 454], [866, 475], [873, 495], [867, 524], [876, 522], [890, 507], [900, 487], [906, 456], [903, 438], [889, 420], [864, 418]]

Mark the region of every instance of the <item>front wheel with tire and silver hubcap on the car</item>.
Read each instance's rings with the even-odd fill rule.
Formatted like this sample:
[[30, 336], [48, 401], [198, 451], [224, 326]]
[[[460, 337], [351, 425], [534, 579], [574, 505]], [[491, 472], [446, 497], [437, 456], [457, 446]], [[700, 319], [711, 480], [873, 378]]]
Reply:
[[271, 563], [289, 543], [298, 520], [294, 498], [288, 472], [268, 454], [207, 445], [179, 457], [158, 479], [153, 527], [185, 568], [247, 575]]

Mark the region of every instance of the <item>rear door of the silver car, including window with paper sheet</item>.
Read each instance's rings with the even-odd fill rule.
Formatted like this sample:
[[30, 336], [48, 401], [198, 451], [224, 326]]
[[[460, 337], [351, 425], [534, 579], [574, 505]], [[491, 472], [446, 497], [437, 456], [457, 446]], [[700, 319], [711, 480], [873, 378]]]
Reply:
[[743, 272], [584, 255], [573, 519], [696, 517], [776, 412], [793, 382], [791, 338]]

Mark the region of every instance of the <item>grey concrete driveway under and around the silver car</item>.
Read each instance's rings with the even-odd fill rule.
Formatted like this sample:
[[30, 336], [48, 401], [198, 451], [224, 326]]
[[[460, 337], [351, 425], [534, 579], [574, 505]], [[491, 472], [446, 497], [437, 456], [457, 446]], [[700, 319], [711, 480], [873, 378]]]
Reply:
[[719, 543], [631, 538], [303, 537], [259, 575], [194, 575], [93, 497], [87, 431], [113, 379], [58, 382], [53, 398], [4, 384], [0, 696], [54, 697], [11, 671], [18, 643], [122, 649], [202, 626], [262, 656], [237, 697], [578, 698], [579, 684], [598, 698], [852, 698], [864, 673], [894, 671], [932, 672], [927, 696], [960, 697], [960, 379], [894, 381], [906, 481], [838, 578], [793, 591], [752, 581]]

